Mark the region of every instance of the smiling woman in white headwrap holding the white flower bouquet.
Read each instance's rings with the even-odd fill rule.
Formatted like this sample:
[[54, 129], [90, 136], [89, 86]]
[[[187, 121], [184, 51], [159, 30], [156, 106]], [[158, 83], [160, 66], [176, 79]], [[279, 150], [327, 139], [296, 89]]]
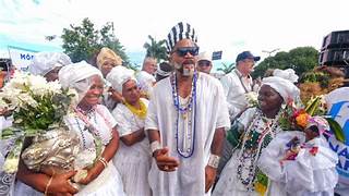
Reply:
[[[108, 109], [98, 103], [104, 89], [101, 73], [83, 61], [62, 68], [59, 81], [63, 87], [73, 87], [79, 93], [75, 113], [65, 118], [65, 124], [80, 136], [81, 149], [75, 161], [88, 167], [87, 175], [77, 182], [82, 184], [80, 189], [69, 183], [74, 172], [57, 174], [50, 180], [50, 176], [43, 173], [23, 172], [23, 168], [21, 172], [20, 168], [19, 179], [39, 192], [53, 195], [124, 195], [120, 174], [111, 160], [119, 146], [117, 123]], [[97, 157], [99, 143], [101, 154]], [[41, 195], [38, 192], [33, 193], [33, 189], [24, 184], [21, 185], [19, 189], [22, 191], [19, 191], [17, 195]]]

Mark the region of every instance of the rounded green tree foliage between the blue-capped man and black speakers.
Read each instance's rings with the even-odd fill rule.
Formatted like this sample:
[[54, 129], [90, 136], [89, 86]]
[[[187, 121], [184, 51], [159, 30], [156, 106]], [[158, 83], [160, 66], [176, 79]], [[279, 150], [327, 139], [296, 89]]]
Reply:
[[263, 76], [268, 69], [293, 69], [297, 75], [311, 71], [317, 65], [318, 51], [313, 47], [298, 47], [289, 52], [278, 52], [264, 59], [252, 73], [253, 77]]

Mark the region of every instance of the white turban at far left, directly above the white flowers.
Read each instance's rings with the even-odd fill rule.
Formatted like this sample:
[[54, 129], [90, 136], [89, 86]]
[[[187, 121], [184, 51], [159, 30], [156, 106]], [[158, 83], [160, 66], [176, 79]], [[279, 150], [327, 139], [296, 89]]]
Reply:
[[34, 75], [45, 76], [56, 68], [71, 64], [70, 58], [62, 52], [38, 52], [34, 56], [29, 65], [29, 72]]

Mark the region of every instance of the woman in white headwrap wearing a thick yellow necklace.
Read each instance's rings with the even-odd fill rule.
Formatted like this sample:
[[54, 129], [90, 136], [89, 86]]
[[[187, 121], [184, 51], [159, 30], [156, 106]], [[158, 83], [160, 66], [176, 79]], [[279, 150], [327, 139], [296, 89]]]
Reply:
[[140, 98], [140, 89], [132, 70], [113, 68], [107, 79], [124, 98], [124, 102], [119, 103], [112, 111], [122, 142], [113, 163], [121, 174], [127, 195], [151, 196], [148, 173], [152, 158], [149, 142], [145, 138], [144, 132], [148, 101]]

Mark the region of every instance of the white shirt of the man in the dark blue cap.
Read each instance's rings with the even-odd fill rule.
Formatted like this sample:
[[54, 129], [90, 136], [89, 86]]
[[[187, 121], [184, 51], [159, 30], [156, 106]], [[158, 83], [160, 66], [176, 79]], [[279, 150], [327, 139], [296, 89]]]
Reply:
[[[241, 81], [240, 81], [241, 78]], [[243, 77], [242, 74], [234, 69], [220, 79], [227, 97], [230, 119], [234, 119], [246, 106], [248, 100], [245, 94], [252, 90], [252, 77]]]

